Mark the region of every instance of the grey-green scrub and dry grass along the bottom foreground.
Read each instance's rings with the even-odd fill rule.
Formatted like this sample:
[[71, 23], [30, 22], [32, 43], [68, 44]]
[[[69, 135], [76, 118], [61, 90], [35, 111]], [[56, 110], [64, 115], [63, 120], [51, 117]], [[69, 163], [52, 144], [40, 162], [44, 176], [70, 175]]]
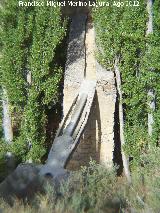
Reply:
[[48, 185], [45, 195], [37, 195], [30, 202], [25, 200], [22, 203], [20, 200], [15, 200], [12, 207], [0, 202], [0, 209], [4, 213], [158, 213], [160, 211], [159, 152], [159, 148], [153, 149], [143, 157], [145, 166], [137, 168], [132, 173], [132, 187], [128, 186], [125, 179], [117, 178], [114, 169], [106, 170], [102, 165], [91, 161], [89, 167], [83, 167], [59, 188], [53, 189]]

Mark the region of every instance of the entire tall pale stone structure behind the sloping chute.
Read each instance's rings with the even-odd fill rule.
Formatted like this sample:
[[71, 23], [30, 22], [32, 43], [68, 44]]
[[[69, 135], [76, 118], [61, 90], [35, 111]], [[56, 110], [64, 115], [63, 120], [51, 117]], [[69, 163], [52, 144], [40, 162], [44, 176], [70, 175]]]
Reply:
[[114, 75], [95, 59], [95, 32], [92, 20], [83, 14], [72, 18], [64, 78], [64, 116], [83, 79], [97, 81], [97, 89], [88, 123], [72, 154], [67, 169], [87, 165], [90, 158], [112, 165], [114, 152], [114, 111], [116, 89]]

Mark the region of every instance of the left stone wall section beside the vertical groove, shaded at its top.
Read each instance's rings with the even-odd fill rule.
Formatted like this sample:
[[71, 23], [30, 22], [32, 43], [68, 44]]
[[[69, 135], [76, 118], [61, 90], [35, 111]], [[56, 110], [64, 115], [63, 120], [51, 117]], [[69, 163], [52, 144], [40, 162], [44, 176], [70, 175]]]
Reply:
[[74, 16], [70, 25], [67, 61], [64, 74], [64, 115], [68, 112], [70, 105], [78, 92], [84, 79], [85, 70], [85, 28], [86, 15]]

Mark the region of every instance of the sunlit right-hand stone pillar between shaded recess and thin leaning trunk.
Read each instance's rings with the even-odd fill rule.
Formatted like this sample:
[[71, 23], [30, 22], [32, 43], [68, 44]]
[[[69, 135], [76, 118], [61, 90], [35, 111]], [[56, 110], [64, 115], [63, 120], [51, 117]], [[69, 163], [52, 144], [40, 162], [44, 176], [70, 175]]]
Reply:
[[107, 166], [113, 163], [114, 141], [114, 113], [116, 104], [116, 87], [114, 74], [97, 63], [97, 98], [100, 112], [101, 138], [100, 163]]

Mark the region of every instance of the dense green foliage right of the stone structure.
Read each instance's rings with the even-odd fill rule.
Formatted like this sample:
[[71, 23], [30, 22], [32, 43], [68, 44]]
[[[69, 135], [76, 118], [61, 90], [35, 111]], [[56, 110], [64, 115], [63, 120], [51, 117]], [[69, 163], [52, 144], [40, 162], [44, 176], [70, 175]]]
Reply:
[[[112, 1], [108, 1], [112, 5]], [[141, 154], [152, 144], [156, 145], [160, 131], [160, 42], [159, 1], [153, 5], [153, 34], [146, 36], [147, 1], [139, 7], [100, 7], [93, 11], [98, 44], [98, 59], [107, 69], [114, 70], [115, 61], [121, 72], [123, 109], [125, 116], [125, 150], [140, 162]], [[147, 91], [152, 88], [156, 98], [153, 135], [148, 135]], [[151, 146], [152, 146], [151, 145]]]

